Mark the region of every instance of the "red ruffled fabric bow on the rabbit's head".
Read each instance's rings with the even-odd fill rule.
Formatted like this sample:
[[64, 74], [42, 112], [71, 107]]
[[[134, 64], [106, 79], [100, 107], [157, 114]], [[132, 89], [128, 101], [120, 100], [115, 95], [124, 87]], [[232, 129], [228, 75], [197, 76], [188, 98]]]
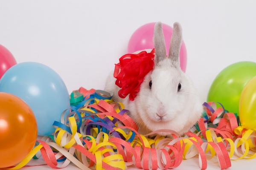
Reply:
[[154, 66], [154, 53], [153, 49], [150, 53], [142, 51], [139, 54], [125, 54], [119, 59], [119, 63], [115, 64], [116, 85], [122, 88], [118, 91], [119, 97], [125, 98], [130, 94], [129, 99], [134, 101], [145, 75]]

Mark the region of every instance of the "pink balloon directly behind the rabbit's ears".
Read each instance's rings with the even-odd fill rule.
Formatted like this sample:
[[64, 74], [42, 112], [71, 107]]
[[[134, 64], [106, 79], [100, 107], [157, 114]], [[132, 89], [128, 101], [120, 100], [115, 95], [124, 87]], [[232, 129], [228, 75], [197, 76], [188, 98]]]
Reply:
[[[135, 51], [153, 49], [153, 36], [154, 36], [154, 25], [155, 23], [148, 23], [138, 28], [134, 34], [132, 34], [128, 43], [128, 54], [134, 53]], [[163, 23], [163, 35], [166, 43], [166, 55], [169, 54], [169, 47], [171, 43], [173, 28]], [[182, 71], [186, 71], [186, 46], [182, 41], [180, 48], [180, 68]]]

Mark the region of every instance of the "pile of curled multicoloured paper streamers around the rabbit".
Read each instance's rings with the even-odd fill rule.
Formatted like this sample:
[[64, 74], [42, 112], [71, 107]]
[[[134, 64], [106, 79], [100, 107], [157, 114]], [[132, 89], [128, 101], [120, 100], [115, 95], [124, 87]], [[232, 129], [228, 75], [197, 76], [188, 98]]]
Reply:
[[[247, 130], [241, 137], [236, 136], [236, 116], [216, 108], [214, 102], [204, 103], [206, 115], [198, 121], [197, 134], [163, 129], [140, 135], [136, 123], [127, 115], [128, 110], [122, 103], [113, 102], [111, 96], [105, 91], [83, 88], [74, 91], [70, 95], [71, 108], [61, 114], [61, 122], [53, 123], [55, 133], [38, 140], [40, 144], [25, 159], [6, 169], [17, 170], [40, 155], [52, 168], [66, 167], [72, 161], [82, 170], [92, 166], [96, 170], [127, 170], [133, 164], [145, 170], [163, 170], [178, 167], [183, 159], [196, 155], [201, 169], [206, 169], [207, 159], [214, 156], [219, 167], [225, 169], [231, 167], [230, 160], [256, 157], [255, 131]], [[208, 127], [209, 122], [218, 126]], [[172, 138], [147, 137], [159, 132], [170, 133]], [[201, 139], [201, 134], [207, 142]], [[209, 151], [211, 155], [207, 154]], [[63, 163], [58, 166], [60, 161]]]

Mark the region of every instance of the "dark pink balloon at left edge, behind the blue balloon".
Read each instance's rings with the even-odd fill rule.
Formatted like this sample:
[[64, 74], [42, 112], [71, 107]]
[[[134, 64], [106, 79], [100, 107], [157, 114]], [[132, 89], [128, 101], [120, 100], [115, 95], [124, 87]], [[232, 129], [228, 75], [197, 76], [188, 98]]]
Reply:
[[3, 45], [0, 45], [0, 79], [3, 74], [15, 64], [17, 64], [17, 62], [12, 53]]

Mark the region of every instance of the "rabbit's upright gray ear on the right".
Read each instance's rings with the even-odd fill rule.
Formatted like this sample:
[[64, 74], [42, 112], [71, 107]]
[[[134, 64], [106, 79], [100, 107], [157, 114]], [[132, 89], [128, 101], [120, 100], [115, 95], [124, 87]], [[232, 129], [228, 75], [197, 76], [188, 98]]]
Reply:
[[180, 67], [180, 47], [182, 43], [182, 28], [180, 23], [173, 24], [171, 44], [169, 48], [169, 59], [175, 67]]

